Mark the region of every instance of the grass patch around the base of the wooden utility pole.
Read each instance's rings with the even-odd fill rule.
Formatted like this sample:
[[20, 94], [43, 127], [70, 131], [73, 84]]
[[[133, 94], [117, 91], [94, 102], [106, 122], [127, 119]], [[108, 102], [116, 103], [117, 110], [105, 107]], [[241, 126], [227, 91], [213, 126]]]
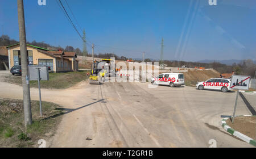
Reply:
[[0, 147], [38, 147], [38, 140], [49, 140], [62, 118], [60, 106], [42, 102], [40, 116], [38, 101], [31, 101], [32, 124], [24, 127], [23, 101], [0, 99]]

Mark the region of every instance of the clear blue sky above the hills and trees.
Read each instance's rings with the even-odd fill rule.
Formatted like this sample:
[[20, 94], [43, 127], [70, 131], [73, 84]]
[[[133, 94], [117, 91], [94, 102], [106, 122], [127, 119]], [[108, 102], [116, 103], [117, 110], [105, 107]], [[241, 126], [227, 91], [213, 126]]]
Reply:
[[[96, 53], [115, 53], [130, 58], [160, 58], [164, 39], [166, 60], [255, 60], [256, 1], [217, 0], [61, 0], [77, 29]], [[82, 41], [56, 0], [24, 1], [27, 41], [72, 45]], [[15, 0], [0, 0], [0, 35], [19, 40]], [[88, 42], [88, 45], [91, 43]], [[88, 46], [88, 52], [92, 52]]]

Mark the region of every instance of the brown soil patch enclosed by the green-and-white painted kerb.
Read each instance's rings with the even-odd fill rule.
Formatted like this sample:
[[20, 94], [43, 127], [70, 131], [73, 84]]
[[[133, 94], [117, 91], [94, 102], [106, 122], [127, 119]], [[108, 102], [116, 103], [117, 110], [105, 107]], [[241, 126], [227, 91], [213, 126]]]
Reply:
[[234, 123], [231, 119], [226, 120], [231, 128], [256, 140], [256, 116], [237, 116]]

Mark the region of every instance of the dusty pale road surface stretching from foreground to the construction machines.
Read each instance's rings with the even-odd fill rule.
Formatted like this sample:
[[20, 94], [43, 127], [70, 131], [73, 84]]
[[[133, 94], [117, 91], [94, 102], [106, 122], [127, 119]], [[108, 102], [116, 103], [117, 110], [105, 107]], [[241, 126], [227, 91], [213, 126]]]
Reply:
[[[22, 87], [0, 87], [1, 98], [22, 99]], [[220, 115], [232, 115], [235, 97], [193, 87], [149, 89], [138, 82], [42, 89], [43, 101], [66, 108], [49, 147], [209, 147], [210, 139], [217, 147], [253, 147], [221, 127]], [[38, 89], [31, 89], [31, 99], [38, 100]], [[237, 115], [251, 115], [241, 98]]]

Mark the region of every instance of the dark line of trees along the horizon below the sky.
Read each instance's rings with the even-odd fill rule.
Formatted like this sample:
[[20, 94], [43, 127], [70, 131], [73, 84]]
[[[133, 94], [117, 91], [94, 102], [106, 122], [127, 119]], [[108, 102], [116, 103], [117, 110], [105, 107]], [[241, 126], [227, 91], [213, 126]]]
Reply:
[[[84, 33], [85, 37], [85, 33]], [[0, 46], [8, 46], [8, 45], [13, 45], [19, 43], [19, 41], [16, 41], [14, 39], [10, 39], [8, 35], [2, 35], [0, 37]], [[92, 54], [89, 54], [86, 50], [81, 51], [80, 48], [73, 48], [72, 46], [67, 46], [65, 48], [62, 48], [60, 46], [55, 47], [43, 42], [37, 42], [33, 40], [32, 42], [27, 41], [28, 44], [35, 45], [37, 47], [42, 47], [42, 48], [56, 48], [57, 50], [60, 51], [65, 51], [65, 52], [76, 52], [77, 55], [83, 56], [92, 56]], [[86, 49], [86, 48], [85, 48]], [[83, 53], [84, 52], [84, 53]], [[98, 53], [95, 54], [94, 57], [98, 58], [111, 58], [115, 57], [116, 60], [127, 60], [127, 57], [125, 56], [117, 56], [113, 53]], [[158, 60], [152, 60], [150, 58], [146, 58], [144, 60], [145, 62], [155, 62]], [[140, 60], [137, 60], [137, 62], [141, 62]], [[256, 64], [254, 64], [253, 60], [248, 59], [248, 60], [243, 60], [239, 64], [234, 63], [232, 66], [226, 65], [226, 64], [221, 64], [220, 62], [211, 62], [211, 63], [201, 63], [201, 62], [189, 62], [189, 61], [172, 61], [172, 60], [164, 60], [164, 64], [167, 64], [169, 67], [181, 67], [183, 65], [186, 65], [188, 68], [195, 68], [195, 67], [204, 67], [204, 68], [213, 68], [216, 69], [220, 73], [232, 73], [232, 71], [235, 72], [235, 74], [240, 74], [240, 75], [249, 75], [252, 78], [254, 77], [255, 70], [256, 70]]]

